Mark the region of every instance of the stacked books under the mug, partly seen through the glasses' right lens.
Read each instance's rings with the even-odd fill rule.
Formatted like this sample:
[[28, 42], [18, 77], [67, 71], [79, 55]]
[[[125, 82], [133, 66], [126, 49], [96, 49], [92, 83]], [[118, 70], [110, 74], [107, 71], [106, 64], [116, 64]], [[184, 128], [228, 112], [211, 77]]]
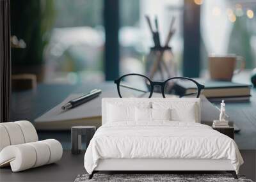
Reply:
[[[210, 102], [228, 101], [248, 101], [250, 100], [250, 84], [240, 84], [218, 80], [195, 79], [205, 86], [203, 95]], [[195, 84], [191, 82], [178, 82], [177, 86], [182, 93], [192, 93], [196, 91]]]

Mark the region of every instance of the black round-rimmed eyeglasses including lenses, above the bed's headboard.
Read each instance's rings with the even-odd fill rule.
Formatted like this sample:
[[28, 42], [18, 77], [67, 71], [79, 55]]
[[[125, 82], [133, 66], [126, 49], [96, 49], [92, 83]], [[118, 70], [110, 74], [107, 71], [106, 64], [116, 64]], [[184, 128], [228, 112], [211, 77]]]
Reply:
[[[151, 98], [155, 91], [161, 90], [163, 98], [177, 95], [198, 98], [204, 85], [187, 77], [172, 77], [164, 82], [153, 82], [145, 75], [131, 73], [115, 80], [120, 98]], [[156, 89], [159, 87], [159, 89]]]

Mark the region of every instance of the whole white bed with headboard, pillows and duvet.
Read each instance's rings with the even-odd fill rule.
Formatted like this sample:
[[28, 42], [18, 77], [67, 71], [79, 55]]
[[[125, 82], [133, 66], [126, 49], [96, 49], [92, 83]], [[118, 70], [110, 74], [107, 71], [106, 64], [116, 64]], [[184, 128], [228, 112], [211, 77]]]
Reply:
[[227, 171], [243, 158], [230, 137], [200, 124], [199, 98], [104, 98], [84, 167], [98, 171]]

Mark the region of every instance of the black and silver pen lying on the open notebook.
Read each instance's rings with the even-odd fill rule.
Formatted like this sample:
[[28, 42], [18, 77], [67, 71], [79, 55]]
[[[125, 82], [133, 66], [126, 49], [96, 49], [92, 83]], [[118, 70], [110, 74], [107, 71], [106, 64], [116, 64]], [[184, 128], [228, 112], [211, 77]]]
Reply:
[[81, 105], [85, 102], [88, 102], [89, 100], [92, 100], [93, 98], [99, 96], [101, 93], [100, 89], [93, 89], [90, 91], [90, 93], [87, 93], [86, 95], [80, 96], [79, 98], [75, 98], [73, 100], [70, 100], [70, 102], [66, 103], [61, 107], [62, 110], [72, 109], [74, 107], [77, 107], [78, 105]]

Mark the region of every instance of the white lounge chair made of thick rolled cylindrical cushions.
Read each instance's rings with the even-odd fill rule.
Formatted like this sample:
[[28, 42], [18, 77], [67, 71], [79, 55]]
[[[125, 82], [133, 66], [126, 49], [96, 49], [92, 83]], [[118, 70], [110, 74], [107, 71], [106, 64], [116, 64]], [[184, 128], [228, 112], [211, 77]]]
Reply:
[[0, 167], [11, 165], [13, 172], [23, 171], [60, 160], [62, 151], [58, 140], [38, 142], [29, 121], [0, 123]]

